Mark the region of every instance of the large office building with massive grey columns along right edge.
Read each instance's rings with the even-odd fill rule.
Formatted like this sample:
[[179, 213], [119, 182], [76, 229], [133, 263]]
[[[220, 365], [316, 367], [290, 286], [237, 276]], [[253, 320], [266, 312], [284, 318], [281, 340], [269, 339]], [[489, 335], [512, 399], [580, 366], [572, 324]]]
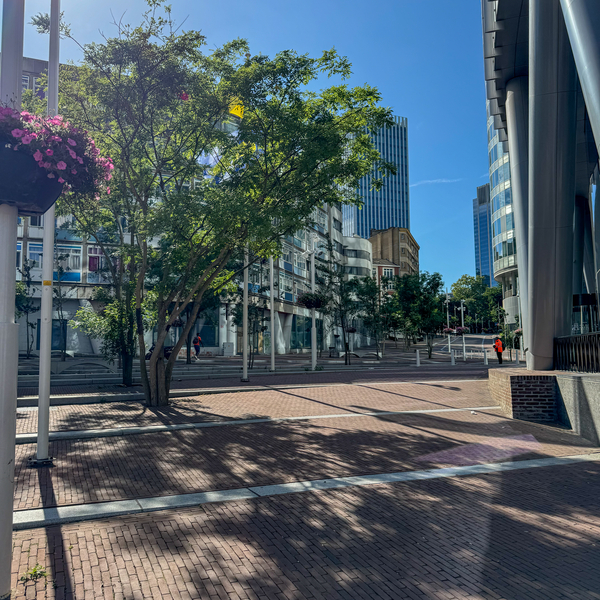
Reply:
[[598, 327], [600, 3], [481, 6], [494, 276], [516, 267], [527, 368], [552, 369], [556, 338]]

